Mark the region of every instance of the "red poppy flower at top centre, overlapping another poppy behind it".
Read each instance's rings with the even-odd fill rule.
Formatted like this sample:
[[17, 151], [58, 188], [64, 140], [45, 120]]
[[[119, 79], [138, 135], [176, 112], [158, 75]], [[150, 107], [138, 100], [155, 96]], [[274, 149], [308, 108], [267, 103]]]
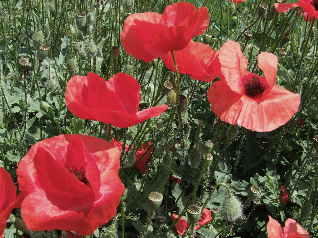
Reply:
[[196, 10], [193, 4], [180, 2], [167, 6], [162, 15], [146, 12], [127, 17], [121, 43], [128, 54], [149, 63], [171, 50], [182, 50], [208, 26], [205, 7]]

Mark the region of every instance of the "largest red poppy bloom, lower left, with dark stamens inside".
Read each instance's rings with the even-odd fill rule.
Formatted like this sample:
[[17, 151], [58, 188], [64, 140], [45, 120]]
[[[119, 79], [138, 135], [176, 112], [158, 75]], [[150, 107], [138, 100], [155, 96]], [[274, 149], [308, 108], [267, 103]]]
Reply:
[[17, 169], [25, 224], [93, 234], [116, 214], [125, 191], [119, 158], [117, 148], [92, 136], [60, 135], [34, 144]]

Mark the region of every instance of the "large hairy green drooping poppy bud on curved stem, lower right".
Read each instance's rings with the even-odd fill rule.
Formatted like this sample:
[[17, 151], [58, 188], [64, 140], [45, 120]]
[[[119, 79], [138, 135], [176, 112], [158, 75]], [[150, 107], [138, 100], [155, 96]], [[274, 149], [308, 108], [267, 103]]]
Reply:
[[228, 222], [235, 221], [242, 214], [242, 204], [240, 200], [234, 196], [227, 196], [222, 202], [222, 215]]

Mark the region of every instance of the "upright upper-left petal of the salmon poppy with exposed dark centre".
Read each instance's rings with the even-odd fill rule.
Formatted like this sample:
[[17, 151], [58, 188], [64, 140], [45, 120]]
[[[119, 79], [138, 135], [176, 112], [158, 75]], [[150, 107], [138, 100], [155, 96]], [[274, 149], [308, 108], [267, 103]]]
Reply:
[[225, 79], [232, 91], [244, 94], [244, 83], [247, 59], [241, 51], [239, 43], [227, 41], [220, 48], [219, 62], [221, 63], [221, 79]]

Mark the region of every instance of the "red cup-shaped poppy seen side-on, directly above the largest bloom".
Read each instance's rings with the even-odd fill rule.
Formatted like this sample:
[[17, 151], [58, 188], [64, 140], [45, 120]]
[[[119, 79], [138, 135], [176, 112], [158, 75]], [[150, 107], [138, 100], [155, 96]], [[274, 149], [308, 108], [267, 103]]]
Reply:
[[73, 76], [66, 86], [66, 107], [81, 119], [130, 127], [150, 117], [159, 116], [168, 109], [160, 105], [137, 111], [140, 85], [135, 78], [124, 73], [115, 74], [108, 81], [89, 72]]

